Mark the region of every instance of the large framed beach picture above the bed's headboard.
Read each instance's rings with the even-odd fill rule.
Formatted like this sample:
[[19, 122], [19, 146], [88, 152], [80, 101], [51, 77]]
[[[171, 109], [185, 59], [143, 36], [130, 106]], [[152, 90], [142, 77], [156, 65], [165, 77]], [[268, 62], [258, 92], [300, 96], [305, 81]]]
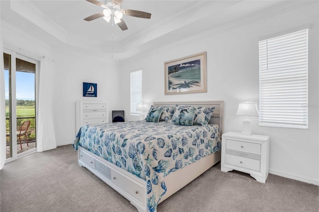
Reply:
[[206, 52], [164, 63], [165, 95], [207, 92]]

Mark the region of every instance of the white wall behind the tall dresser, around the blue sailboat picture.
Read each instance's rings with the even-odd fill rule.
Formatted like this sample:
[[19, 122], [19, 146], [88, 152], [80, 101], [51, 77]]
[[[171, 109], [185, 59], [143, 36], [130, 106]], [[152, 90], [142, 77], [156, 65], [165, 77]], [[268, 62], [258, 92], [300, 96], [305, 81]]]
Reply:
[[[53, 122], [57, 145], [70, 144], [77, 133], [75, 102], [106, 101], [109, 122], [118, 109], [119, 83], [116, 64], [90, 55], [60, 49], [52, 50], [54, 67]], [[83, 97], [83, 82], [97, 83], [97, 98]]]

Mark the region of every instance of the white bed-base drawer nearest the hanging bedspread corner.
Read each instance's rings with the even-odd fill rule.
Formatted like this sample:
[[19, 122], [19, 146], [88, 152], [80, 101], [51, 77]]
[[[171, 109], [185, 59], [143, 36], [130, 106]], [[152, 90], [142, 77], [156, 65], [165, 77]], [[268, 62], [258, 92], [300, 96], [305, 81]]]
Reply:
[[131, 196], [135, 197], [141, 202], [144, 202], [143, 200], [145, 197], [143, 195], [143, 186], [136, 184], [114, 170], [111, 171], [111, 181], [124, 191], [128, 192]]

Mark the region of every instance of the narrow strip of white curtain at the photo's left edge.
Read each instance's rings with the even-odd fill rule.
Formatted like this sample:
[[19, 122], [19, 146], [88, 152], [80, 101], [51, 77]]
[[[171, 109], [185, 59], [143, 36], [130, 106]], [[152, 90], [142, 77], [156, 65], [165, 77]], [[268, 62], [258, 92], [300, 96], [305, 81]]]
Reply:
[[4, 65], [3, 43], [0, 36], [0, 169], [5, 162], [6, 137], [5, 137], [5, 94], [4, 94]]

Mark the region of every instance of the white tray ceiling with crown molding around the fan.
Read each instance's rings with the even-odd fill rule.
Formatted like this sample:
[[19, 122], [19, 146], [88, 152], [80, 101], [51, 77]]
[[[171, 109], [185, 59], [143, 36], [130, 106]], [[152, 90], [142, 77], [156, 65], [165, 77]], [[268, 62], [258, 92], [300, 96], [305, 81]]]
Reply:
[[103, 18], [83, 20], [103, 10], [86, 0], [1, 0], [0, 12], [1, 24], [19, 28], [48, 45], [107, 59], [113, 56], [119, 61], [238, 21], [265, 18], [266, 10], [285, 10], [301, 2], [304, 1], [123, 0], [123, 9], [152, 13], [151, 19], [124, 15], [128, 26], [125, 31], [112, 27]]

